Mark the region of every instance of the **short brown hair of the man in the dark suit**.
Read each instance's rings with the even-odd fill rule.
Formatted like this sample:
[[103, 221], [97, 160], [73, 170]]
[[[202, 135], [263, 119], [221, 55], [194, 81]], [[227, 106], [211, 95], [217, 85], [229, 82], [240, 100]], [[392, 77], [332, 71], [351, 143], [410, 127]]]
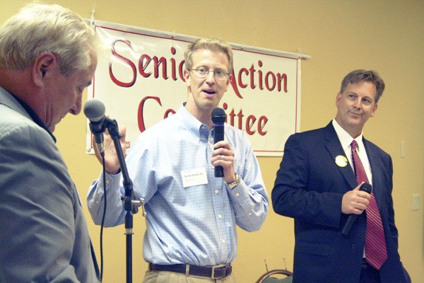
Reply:
[[377, 71], [366, 71], [363, 69], [351, 71], [344, 77], [343, 81], [341, 82], [340, 93], [343, 94], [349, 83], [359, 83], [361, 81], [369, 81], [375, 84], [375, 87], [377, 88], [375, 103], [378, 103], [379, 98], [383, 95], [385, 85], [383, 79], [379, 76]]

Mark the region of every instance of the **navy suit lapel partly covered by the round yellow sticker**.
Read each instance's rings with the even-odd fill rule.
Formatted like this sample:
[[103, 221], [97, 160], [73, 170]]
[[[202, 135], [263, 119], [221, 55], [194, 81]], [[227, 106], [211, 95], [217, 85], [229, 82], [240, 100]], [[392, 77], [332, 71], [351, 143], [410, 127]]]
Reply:
[[[336, 163], [336, 156], [344, 156], [346, 161], [348, 160], [345, 152], [343, 151], [343, 148], [341, 147], [340, 141], [338, 140], [336, 130], [334, 129], [331, 122], [324, 128], [324, 139], [326, 140], [326, 149], [329, 151], [329, 154], [331, 155], [331, 158], [333, 158], [334, 163]], [[337, 168], [352, 189], [358, 186], [355, 173], [353, 172], [349, 162], [344, 167], [337, 165]]]

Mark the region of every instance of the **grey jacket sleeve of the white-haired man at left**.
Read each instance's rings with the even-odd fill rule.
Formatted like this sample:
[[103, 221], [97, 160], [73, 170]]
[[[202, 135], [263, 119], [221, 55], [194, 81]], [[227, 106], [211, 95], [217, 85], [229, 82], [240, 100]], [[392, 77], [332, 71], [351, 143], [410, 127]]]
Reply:
[[35, 125], [2, 129], [0, 172], [0, 282], [79, 282], [78, 199], [52, 138]]

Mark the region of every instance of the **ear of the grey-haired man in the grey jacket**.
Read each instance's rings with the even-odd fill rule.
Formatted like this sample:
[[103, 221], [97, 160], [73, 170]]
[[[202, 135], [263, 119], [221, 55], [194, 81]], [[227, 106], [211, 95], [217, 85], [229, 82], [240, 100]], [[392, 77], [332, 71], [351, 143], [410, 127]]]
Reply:
[[41, 54], [35, 59], [33, 64], [33, 82], [35, 86], [42, 87], [52, 71], [57, 71], [59, 63], [57, 57], [52, 52]]

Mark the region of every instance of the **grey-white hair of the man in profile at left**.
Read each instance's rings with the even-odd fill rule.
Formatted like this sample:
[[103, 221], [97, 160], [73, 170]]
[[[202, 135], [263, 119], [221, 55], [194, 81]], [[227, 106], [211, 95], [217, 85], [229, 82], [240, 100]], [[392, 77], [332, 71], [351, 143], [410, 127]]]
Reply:
[[94, 28], [59, 5], [28, 4], [0, 28], [0, 67], [22, 71], [40, 54], [58, 57], [61, 74], [71, 76], [93, 64], [100, 40]]

